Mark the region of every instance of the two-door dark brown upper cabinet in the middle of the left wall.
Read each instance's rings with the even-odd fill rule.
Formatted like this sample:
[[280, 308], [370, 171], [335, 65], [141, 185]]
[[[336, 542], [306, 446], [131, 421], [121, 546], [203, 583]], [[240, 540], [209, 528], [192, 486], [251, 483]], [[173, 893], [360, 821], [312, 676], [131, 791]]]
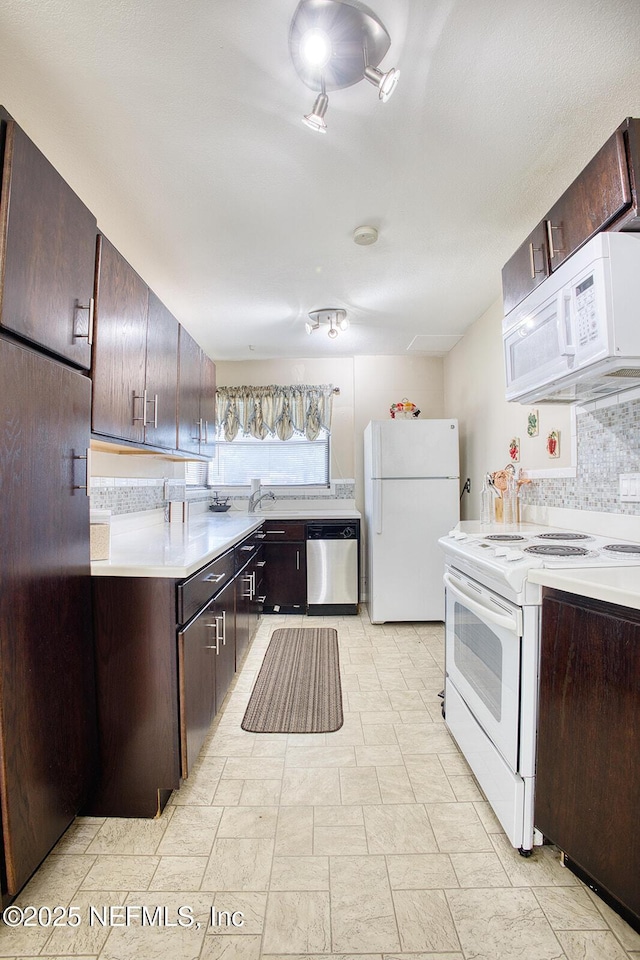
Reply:
[[99, 236], [93, 432], [174, 450], [177, 378], [178, 321]]

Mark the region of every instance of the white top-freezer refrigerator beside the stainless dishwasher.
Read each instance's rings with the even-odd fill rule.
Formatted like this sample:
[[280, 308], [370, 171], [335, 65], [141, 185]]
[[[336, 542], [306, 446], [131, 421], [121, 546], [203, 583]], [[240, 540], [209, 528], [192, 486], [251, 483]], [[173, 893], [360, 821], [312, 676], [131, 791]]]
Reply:
[[438, 547], [460, 519], [457, 420], [372, 420], [364, 432], [372, 623], [444, 620]]

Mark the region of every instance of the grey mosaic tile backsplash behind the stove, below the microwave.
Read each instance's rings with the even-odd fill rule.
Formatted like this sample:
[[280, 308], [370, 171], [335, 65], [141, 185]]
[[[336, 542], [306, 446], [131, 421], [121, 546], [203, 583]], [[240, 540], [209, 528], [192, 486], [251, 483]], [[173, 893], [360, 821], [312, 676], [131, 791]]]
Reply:
[[640, 472], [640, 399], [577, 408], [575, 477], [537, 479], [523, 503], [640, 516], [640, 503], [620, 500], [618, 476]]

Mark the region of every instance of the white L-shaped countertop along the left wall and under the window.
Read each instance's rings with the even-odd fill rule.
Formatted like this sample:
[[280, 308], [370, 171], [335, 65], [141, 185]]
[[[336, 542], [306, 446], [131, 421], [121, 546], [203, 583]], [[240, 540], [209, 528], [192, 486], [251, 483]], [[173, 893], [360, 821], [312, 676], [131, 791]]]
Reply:
[[[140, 515], [137, 515], [138, 517]], [[265, 520], [356, 520], [357, 510], [270, 510], [261, 513], [205, 511], [192, 513], [187, 523], [158, 522], [142, 525], [132, 520], [114, 524], [109, 560], [93, 560], [94, 577], [172, 577], [191, 576], [200, 567], [256, 530]]]

